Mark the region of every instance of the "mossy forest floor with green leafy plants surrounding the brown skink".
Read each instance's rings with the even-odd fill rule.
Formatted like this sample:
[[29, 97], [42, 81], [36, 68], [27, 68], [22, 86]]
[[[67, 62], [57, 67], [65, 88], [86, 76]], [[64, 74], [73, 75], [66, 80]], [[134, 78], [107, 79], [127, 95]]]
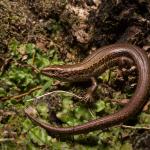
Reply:
[[1, 0], [0, 149], [150, 148], [149, 102], [123, 125], [63, 138], [53, 137], [24, 114], [26, 107], [33, 106], [34, 115], [38, 112], [54, 126], [74, 126], [121, 109], [136, 87], [133, 67], [102, 74], [95, 102], [87, 105], [67, 94], [35, 103], [34, 97], [53, 90], [84, 95], [90, 83], [64, 83], [30, 66], [77, 63], [113, 43], [137, 45], [150, 56], [149, 33], [149, 0]]

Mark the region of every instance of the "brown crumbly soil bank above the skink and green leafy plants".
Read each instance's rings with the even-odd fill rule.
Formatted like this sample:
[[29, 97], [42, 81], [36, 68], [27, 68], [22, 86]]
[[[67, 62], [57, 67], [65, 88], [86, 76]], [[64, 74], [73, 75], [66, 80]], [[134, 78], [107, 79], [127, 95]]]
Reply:
[[147, 46], [149, 33], [149, 0], [0, 1], [0, 53], [16, 39], [57, 48], [65, 59], [116, 42]]

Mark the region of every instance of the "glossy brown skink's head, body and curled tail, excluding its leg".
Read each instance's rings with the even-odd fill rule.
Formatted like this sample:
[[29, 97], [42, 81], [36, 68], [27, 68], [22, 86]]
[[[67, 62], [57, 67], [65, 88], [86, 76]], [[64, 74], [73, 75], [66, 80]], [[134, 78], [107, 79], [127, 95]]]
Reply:
[[133, 60], [138, 70], [135, 93], [128, 104], [118, 112], [89, 121], [74, 127], [54, 127], [42, 122], [25, 110], [26, 115], [36, 124], [53, 134], [81, 134], [104, 129], [120, 124], [135, 115], [146, 103], [150, 86], [150, 63], [144, 50], [129, 44], [114, 44], [98, 49], [81, 63], [75, 65], [54, 65], [41, 70], [41, 73], [66, 81], [89, 80], [103, 73], [106, 69], [120, 64], [122, 58]]

